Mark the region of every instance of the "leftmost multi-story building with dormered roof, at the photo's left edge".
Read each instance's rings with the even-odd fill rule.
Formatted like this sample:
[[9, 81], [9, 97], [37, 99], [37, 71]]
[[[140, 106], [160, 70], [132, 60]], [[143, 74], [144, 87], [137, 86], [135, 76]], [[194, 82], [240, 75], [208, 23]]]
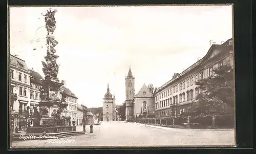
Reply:
[[24, 130], [30, 109], [30, 70], [24, 60], [10, 55], [10, 112], [12, 128]]

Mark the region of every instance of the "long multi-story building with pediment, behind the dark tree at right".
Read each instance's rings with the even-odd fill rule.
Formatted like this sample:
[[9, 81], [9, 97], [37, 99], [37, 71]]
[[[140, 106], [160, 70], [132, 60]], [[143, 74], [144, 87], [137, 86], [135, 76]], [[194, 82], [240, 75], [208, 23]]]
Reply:
[[233, 65], [232, 38], [222, 45], [211, 44], [207, 54], [180, 74], [160, 86], [155, 97], [156, 116], [181, 114], [195, 100], [201, 90], [198, 80], [213, 76], [213, 70], [222, 65]]

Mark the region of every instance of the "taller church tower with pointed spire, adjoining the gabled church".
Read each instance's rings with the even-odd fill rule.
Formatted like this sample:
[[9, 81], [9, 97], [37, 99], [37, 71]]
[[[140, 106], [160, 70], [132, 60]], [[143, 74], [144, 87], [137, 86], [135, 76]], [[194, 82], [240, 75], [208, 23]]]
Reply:
[[135, 78], [133, 77], [133, 73], [131, 71], [131, 67], [129, 69], [128, 75], [125, 76], [125, 119], [133, 119], [133, 103], [134, 103], [134, 95], [135, 95]]

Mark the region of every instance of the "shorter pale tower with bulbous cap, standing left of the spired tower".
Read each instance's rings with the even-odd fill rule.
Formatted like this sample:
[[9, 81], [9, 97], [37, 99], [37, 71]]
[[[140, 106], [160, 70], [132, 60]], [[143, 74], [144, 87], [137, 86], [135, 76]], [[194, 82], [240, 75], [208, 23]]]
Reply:
[[103, 107], [102, 107], [102, 114], [103, 114], [103, 121], [114, 121], [116, 118], [115, 116], [115, 98], [112, 97], [110, 93], [109, 83], [108, 88], [106, 89], [106, 94], [103, 98]]

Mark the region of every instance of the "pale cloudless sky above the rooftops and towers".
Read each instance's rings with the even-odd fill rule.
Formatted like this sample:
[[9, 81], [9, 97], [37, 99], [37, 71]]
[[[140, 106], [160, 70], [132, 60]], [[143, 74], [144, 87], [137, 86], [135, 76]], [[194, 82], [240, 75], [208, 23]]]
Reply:
[[[41, 74], [50, 7], [10, 8], [10, 53]], [[217, 43], [232, 37], [231, 6], [53, 7], [58, 78], [78, 104], [102, 106], [109, 83], [116, 104], [125, 101], [125, 75], [160, 87]], [[35, 49], [35, 50], [34, 50]]]

